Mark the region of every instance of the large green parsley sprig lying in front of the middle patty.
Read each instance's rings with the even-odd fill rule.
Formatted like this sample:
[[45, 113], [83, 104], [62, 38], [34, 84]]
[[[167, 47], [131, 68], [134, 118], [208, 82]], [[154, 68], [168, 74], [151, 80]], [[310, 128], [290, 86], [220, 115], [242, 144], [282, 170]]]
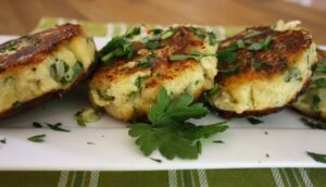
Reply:
[[172, 101], [166, 89], [160, 89], [156, 104], [151, 105], [148, 114], [149, 123], [136, 123], [129, 129], [129, 136], [137, 138], [136, 145], [145, 155], [158, 149], [168, 160], [175, 157], [197, 159], [200, 153], [199, 139], [226, 130], [226, 122], [205, 126], [187, 122], [209, 113], [202, 103], [191, 104], [192, 101], [191, 95], [183, 95]]

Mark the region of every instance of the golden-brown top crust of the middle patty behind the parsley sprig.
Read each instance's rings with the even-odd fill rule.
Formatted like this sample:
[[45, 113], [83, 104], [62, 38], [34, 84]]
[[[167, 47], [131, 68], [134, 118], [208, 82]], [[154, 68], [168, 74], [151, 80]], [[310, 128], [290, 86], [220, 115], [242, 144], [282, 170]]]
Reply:
[[[135, 42], [134, 45], [137, 45], [137, 42]], [[146, 46], [143, 45], [137, 46], [137, 51], [147, 50]], [[178, 76], [179, 72], [191, 70], [195, 68], [196, 65], [200, 65], [200, 63], [195, 60], [172, 62], [168, 59], [172, 54], [190, 54], [191, 51], [189, 50], [189, 48], [195, 47], [203, 47], [203, 41], [200, 38], [196, 37], [191, 33], [189, 27], [177, 27], [177, 29], [174, 32], [174, 35], [171, 38], [163, 40], [162, 47], [160, 49], [154, 50], [156, 57], [152, 60], [152, 65], [150, 67], [125, 66], [127, 62], [137, 61], [142, 57], [139, 54], [135, 54], [130, 59], [117, 59], [98, 71], [91, 78], [91, 83], [105, 84], [117, 78], [127, 77], [136, 72], [146, 72], [150, 70], [152, 76], [145, 82], [145, 87], [159, 87], [165, 80], [170, 80]], [[135, 53], [137, 53], [137, 51]]]

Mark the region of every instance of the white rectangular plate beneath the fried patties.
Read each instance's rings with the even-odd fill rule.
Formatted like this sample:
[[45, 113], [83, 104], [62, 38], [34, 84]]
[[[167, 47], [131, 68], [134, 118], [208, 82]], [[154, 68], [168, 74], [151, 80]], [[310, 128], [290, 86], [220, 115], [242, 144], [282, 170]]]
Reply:
[[[14, 36], [0, 36], [0, 42]], [[98, 48], [108, 38], [96, 38]], [[326, 153], [326, 130], [310, 129], [300, 115], [289, 110], [262, 117], [260, 125], [246, 119], [229, 122], [229, 129], [203, 140], [198, 160], [168, 161], [158, 152], [151, 158], [141, 154], [127, 134], [127, 124], [103, 116], [99, 122], [79, 127], [74, 113], [89, 105], [85, 85], [80, 85], [62, 101], [53, 100], [15, 117], [0, 121], [0, 170], [100, 170], [142, 171], [172, 169], [240, 169], [240, 167], [325, 167], [306, 155], [305, 151]], [[210, 114], [198, 124], [221, 122]], [[71, 133], [34, 128], [32, 123], [63, 123]], [[46, 134], [46, 141], [35, 144], [27, 138]], [[223, 140], [224, 144], [214, 144]], [[87, 142], [93, 142], [88, 145]]]

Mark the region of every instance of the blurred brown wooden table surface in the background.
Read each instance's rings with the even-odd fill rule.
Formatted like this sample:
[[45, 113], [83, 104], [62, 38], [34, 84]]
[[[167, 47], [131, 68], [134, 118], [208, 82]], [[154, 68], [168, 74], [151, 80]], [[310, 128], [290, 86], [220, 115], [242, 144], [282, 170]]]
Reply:
[[326, 11], [280, 0], [0, 0], [0, 34], [26, 34], [43, 16], [93, 22], [196, 23], [226, 26], [301, 20], [326, 43]]

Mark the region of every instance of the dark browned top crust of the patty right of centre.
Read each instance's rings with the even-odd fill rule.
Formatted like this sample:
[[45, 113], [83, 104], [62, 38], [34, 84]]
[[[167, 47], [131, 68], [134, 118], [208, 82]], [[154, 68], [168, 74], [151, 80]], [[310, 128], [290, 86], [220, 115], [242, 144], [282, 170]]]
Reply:
[[[277, 32], [271, 27], [259, 26], [247, 28], [242, 33], [225, 39], [220, 43], [218, 51], [222, 51], [239, 39], [242, 41], [248, 40], [246, 36], [253, 33], [253, 30], [262, 32], [262, 34], [251, 37], [251, 42], [262, 41], [267, 36], [272, 36], [268, 49], [251, 51], [248, 49], [250, 43], [247, 45], [247, 48], [238, 49], [236, 51], [236, 61], [240, 62], [239, 71], [231, 75], [218, 73], [216, 80], [221, 86], [251, 82], [254, 79], [268, 79], [277, 76], [279, 73], [292, 68], [292, 64], [296, 63], [297, 58], [312, 45], [312, 37], [304, 28]], [[253, 66], [254, 61], [263, 62], [264, 65], [260, 68], [255, 68]], [[220, 72], [228, 70], [230, 65], [230, 63], [218, 62]]]

